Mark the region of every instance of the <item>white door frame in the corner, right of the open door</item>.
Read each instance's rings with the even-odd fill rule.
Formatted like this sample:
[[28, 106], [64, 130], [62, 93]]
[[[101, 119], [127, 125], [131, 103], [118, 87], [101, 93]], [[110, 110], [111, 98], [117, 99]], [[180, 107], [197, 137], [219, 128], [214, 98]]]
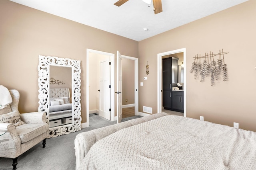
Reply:
[[139, 59], [122, 55], [123, 59], [134, 61], [134, 115], [139, 115]]

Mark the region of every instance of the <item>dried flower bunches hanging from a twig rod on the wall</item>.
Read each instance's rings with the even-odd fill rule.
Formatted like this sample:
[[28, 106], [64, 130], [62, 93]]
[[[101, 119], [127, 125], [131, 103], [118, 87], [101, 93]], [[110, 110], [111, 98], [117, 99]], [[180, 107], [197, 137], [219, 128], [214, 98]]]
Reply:
[[[200, 82], [204, 82], [205, 77], [210, 76], [211, 85], [214, 85], [215, 80], [218, 80], [220, 78], [220, 74], [222, 72], [222, 80], [227, 81], [228, 80], [228, 74], [227, 74], [227, 64], [224, 62], [224, 54], [228, 54], [228, 52], [222, 52], [217, 54], [213, 54], [213, 52], [210, 51], [210, 55], [207, 53], [204, 54], [204, 56], [201, 57], [201, 55], [196, 55], [194, 57], [194, 62], [192, 63], [190, 73], [194, 72], [194, 78], [197, 79], [198, 73], [200, 78]], [[217, 61], [214, 61], [214, 57], [219, 56], [219, 59]], [[204, 58], [203, 63], [201, 63], [201, 58]], [[207, 58], [207, 60], [206, 60]], [[210, 61], [209, 61], [210, 58]], [[222, 58], [222, 59], [221, 59]]]

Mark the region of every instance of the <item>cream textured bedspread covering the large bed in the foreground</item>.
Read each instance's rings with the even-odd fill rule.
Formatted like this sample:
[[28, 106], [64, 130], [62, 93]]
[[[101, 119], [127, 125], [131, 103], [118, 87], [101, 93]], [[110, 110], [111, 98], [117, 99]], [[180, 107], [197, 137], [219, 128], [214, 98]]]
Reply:
[[100, 139], [79, 169], [256, 170], [256, 133], [167, 115]]

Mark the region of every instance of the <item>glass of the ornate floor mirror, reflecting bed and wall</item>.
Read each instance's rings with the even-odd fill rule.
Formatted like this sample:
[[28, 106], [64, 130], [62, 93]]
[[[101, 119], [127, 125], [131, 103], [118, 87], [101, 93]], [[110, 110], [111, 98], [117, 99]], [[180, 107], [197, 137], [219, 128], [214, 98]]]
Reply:
[[72, 68], [50, 66], [49, 126], [72, 123]]

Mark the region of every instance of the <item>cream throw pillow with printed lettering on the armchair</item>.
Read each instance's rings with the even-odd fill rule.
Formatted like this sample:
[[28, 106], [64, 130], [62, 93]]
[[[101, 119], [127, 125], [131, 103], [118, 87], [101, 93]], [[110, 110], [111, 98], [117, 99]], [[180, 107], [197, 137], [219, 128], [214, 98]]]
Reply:
[[12, 123], [15, 126], [25, 124], [24, 121], [20, 119], [20, 113], [18, 111], [12, 111], [10, 113], [0, 115], [0, 123]]

